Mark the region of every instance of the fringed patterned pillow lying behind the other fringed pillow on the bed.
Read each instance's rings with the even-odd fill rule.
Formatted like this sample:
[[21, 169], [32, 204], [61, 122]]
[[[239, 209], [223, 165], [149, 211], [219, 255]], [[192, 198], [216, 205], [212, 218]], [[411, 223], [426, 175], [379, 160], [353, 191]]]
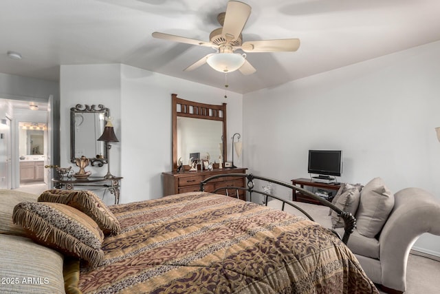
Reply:
[[39, 202], [67, 204], [83, 211], [98, 224], [104, 235], [117, 235], [121, 227], [107, 205], [91, 191], [51, 189], [41, 193]]

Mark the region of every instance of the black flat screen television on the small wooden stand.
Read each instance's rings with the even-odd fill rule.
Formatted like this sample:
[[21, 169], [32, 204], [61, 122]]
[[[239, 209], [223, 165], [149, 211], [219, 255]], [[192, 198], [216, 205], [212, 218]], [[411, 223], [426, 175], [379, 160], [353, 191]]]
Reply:
[[309, 174], [340, 176], [342, 174], [341, 150], [309, 150]]

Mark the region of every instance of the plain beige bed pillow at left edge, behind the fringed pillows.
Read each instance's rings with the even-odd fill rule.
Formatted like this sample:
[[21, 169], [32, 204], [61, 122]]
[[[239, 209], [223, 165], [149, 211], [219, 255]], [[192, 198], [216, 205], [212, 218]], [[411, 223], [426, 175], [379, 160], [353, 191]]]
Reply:
[[20, 202], [36, 202], [38, 195], [24, 193], [15, 190], [0, 190], [0, 233], [8, 235], [26, 236], [23, 227], [12, 222], [12, 211], [14, 206]]

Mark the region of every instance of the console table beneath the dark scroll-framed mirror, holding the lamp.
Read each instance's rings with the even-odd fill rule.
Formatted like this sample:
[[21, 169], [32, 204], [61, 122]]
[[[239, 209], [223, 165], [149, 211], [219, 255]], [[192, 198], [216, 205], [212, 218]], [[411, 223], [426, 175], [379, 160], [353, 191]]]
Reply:
[[122, 177], [103, 178], [103, 177], [89, 177], [87, 179], [78, 180], [76, 178], [53, 178], [52, 182], [56, 189], [73, 190], [75, 187], [87, 187], [90, 190], [104, 189], [109, 190], [115, 196], [115, 204], [119, 203], [119, 187]]

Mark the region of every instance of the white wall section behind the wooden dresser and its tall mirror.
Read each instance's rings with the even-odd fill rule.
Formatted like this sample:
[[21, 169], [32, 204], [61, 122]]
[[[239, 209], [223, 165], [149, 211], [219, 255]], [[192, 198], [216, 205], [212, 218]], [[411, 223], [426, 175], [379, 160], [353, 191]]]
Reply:
[[241, 133], [242, 127], [241, 94], [230, 92], [225, 99], [221, 89], [122, 65], [123, 202], [162, 197], [162, 172], [172, 168], [171, 94], [202, 103], [228, 103], [231, 158], [229, 137]]

